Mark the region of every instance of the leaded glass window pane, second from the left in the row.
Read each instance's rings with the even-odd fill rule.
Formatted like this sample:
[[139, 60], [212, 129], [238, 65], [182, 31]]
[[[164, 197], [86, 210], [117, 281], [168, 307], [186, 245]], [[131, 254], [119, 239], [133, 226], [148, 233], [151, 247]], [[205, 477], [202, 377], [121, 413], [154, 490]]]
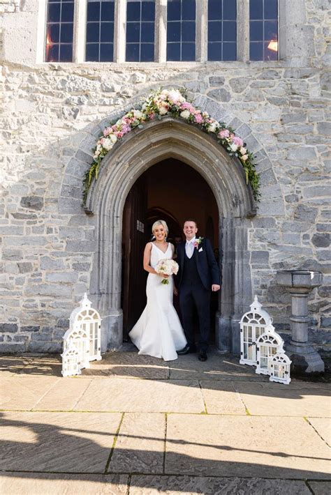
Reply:
[[113, 61], [114, 13], [115, 0], [87, 0], [87, 61]]

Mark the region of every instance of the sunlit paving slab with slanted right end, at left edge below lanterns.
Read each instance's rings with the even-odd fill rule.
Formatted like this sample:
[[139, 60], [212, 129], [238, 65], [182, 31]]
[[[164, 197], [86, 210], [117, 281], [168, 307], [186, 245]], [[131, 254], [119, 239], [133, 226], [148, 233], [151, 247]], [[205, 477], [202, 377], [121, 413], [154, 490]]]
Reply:
[[57, 376], [7, 376], [0, 378], [0, 409], [32, 409], [59, 381]]

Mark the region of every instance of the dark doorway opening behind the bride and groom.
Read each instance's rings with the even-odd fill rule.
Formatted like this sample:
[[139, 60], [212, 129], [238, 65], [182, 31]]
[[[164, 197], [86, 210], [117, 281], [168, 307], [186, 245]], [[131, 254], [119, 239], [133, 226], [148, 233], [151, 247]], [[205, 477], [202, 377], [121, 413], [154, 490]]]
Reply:
[[[144, 172], [128, 193], [122, 229], [124, 340], [146, 305], [147, 272], [142, 268], [142, 255], [152, 237], [152, 224], [165, 220], [168, 240], [176, 245], [184, 241], [182, 227], [187, 218], [198, 222], [198, 236], [209, 238], [219, 261], [219, 210], [212, 190], [195, 169], [172, 158], [163, 160]], [[176, 298], [174, 305], [179, 310]], [[211, 343], [217, 306], [218, 294], [212, 293]]]

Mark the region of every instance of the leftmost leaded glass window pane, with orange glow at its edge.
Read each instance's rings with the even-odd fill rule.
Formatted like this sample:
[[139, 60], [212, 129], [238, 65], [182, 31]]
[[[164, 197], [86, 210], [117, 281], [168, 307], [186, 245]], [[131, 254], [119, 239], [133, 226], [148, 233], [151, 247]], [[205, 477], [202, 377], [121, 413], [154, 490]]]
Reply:
[[48, 0], [46, 62], [73, 61], [73, 0]]

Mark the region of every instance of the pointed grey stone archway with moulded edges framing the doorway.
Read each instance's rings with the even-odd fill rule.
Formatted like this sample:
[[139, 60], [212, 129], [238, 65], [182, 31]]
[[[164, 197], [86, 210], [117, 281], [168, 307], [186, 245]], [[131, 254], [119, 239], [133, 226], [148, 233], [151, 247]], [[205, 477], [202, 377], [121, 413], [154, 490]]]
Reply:
[[137, 178], [165, 158], [193, 167], [209, 184], [219, 207], [222, 291], [216, 316], [216, 344], [238, 351], [239, 320], [251, 301], [247, 259], [247, 218], [255, 213], [242, 166], [231, 160], [212, 137], [179, 120], [166, 117], [134, 130], [103, 160], [98, 180], [87, 198], [96, 218], [96, 254], [90, 293], [103, 317], [103, 347], [122, 344], [121, 241], [122, 212]]

